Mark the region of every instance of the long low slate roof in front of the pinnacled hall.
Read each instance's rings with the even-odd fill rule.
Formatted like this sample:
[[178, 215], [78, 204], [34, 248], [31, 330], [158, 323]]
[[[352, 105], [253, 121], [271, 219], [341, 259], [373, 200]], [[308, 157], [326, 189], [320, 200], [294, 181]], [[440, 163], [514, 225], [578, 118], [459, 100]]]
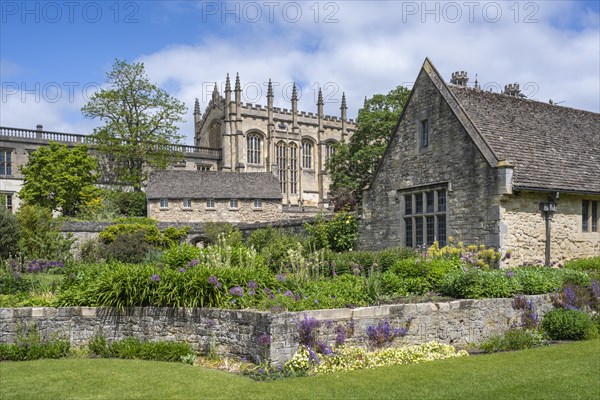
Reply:
[[156, 171], [146, 186], [148, 199], [277, 199], [279, 180], [269, 172]]

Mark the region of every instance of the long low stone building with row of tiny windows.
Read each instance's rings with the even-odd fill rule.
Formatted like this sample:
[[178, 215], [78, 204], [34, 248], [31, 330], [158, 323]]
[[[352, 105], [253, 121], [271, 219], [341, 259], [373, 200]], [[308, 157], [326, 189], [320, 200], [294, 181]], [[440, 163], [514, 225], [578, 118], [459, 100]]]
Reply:
[[161, 222], [257, 223], [284, 219], [269, 172], [157, 171], [146, 186], [148, 216]]

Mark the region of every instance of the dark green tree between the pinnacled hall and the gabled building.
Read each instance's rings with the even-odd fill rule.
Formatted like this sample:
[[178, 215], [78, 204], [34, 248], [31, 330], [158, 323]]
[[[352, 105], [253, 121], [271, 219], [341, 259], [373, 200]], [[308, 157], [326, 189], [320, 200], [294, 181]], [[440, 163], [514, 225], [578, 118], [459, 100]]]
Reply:
[[365, 100], [358, 111], [356, 132], [349, 142], [338, 145], [327, 162], [336, 210], [360, 204], [362, 189], [373, 178], [409, 94], [408, 89], [398, 86], [388, 94]]

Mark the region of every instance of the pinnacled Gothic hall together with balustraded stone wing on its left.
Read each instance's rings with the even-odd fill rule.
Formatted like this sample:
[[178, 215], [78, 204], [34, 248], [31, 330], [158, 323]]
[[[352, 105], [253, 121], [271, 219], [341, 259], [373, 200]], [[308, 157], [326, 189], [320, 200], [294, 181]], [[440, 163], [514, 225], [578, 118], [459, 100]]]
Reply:
[[[232, 97], [233, 93], [233, 97]], [[355, 130], [347, 118], [346, 98], [342, 95], [341, 117], [323, 113], [319, 90], [317, 113], [298, 111], [294, 86], [291, 110], [273, 106], [273, 88], [269, 82], [267, 106], [242, 104], [239, 76], [232, 92], [229, 76], [225, 96], [215, 85], [204, 114], [196, 100], [194, 108], [195, 146], [174, 145], [183, 159], [171, 170], [211, 170], [222, 172], [269, 172], [280, 180], [282, 204], [290, 211], [312, 213], [328, 207], [330, 179], [325, 169], [335, 145], [347, 140]], [[43, 130], [0, 127], [0, 203], [16, 209], [17, 193], [23, 178], [20, 167], [29, 153], [50, 140], [76, 145], [93, 143], [86, 135]], [[102, 160], [101, 160], [102, 161]], [[110, 164], [104, 160], [104, 164]]]

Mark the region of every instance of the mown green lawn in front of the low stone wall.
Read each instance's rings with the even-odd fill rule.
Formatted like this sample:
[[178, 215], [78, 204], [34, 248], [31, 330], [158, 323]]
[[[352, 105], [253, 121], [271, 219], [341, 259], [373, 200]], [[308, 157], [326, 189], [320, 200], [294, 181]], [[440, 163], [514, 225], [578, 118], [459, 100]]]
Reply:
[[0, 398], [599, 399], [600, 341], [275, 382], [179, 363], [2, 362]]

